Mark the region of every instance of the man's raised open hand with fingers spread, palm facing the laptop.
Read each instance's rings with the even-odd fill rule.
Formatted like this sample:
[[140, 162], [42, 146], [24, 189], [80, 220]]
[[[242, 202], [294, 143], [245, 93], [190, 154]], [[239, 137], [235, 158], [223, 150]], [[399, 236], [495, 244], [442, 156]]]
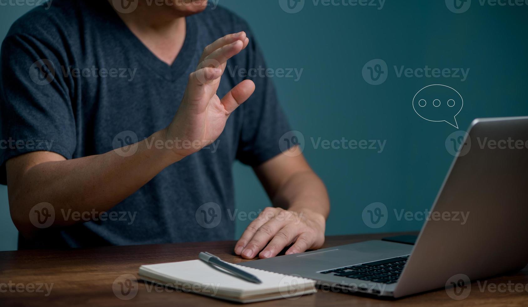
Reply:
[[172, 123], [163, 131], [166, 141], [191, 146], [175, 148], [178, 160], [199, 151], [222, 133], [229, 115], [246, 101], [255, 89], [243, 80], [222, 99], [216, 95], [220, 78], [229, 60], [249, 43], [245, 32], [224, 36], [205, 47], [196, 70], [189, 75], [187, 88]]

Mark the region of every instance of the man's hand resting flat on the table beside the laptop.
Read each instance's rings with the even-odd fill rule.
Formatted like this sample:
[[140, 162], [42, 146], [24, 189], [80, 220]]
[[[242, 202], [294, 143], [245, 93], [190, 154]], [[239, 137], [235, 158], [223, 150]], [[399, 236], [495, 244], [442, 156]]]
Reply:
[[[284, 210], [268, 207], [248, 228], [235, 245], [235, 254], [251, 259], [274, 257], [282, 249], [286, 255], [320, 248], [325, 241], [325, 217], [309, 209]], [[260, 252], [262, 251], [262, 252]], [[259, 253], [260, 252], [260, 253]]]

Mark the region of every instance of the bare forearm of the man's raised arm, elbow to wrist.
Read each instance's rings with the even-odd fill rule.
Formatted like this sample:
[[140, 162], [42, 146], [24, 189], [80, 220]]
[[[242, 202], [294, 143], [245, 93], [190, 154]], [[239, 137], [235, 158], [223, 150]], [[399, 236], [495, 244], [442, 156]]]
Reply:
[[[8, 176], [8, 194], [13, 221], [23, 235], [31, 236], [37, 228], [32, 227], [29, 211], [40, 202], [49, 202], [54, 210], [98, 213], [109, 210], [121, 200], [137, 191], [157, 173], [178, 161], [175, 152], [159, 149], [155, 139], [163, 139], [163, 131], [156, 132], [137, 143], [137, 151], [122, 156], [115, 151], [78, 159], [39, 163], [24, 172]], [[154, 139], [153, 139], [154, 138]], [[134, 146], [134, 145], [133, 145]], [[8, 167], [16, 167], [15, 157]], [[20, 162], [22, 165], [23, 163]], [[21, 166], [22, 167], [22, 166]], [[56, 215], [53, 226], [68, 226], [76, 223]]]

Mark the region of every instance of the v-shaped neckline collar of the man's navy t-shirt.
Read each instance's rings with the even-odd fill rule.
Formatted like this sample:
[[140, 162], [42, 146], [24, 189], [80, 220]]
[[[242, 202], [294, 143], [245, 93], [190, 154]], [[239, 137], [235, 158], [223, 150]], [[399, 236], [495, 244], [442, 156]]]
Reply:
[[140, 63], [143, 63], [147, 68], [152, 69], [159, 76], [169, 81], [175, 81], [187, 72], [197, 50], [198, 27], [194, 16], [185, 17], [185, 40], [176, 59], [171, 65], [169, 65], [159, 59], [141, 40], [139, 40], [136, 34], [130, 31], [129, 27], [114, 11], [114, 8], [111, 7], [107, 0], [103, 0], [103, 2], [106, 3], [108, 10], [111, 11], [111, 14], [109, 15], [116, 19], [116, 25], [118, 26], [118, 29], [116, 29], [117, 33], [125, 35], [123, 37], [123, 41], [126, 44], [125, 48], [130, 48], [130, 50], [136, 51], [134, 54], [137, 55], [137, 60]]

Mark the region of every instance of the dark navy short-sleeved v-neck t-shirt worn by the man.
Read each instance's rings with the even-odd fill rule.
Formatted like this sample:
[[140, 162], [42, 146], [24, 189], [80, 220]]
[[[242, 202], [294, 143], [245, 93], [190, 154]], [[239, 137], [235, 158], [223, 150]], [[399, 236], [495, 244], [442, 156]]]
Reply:
[[[55, 0], [49, 10], [37, 7], [17, 20], [1, 51], [2, 183], [11, 157], [38, 150], [66, 159], [102, 154], [166, 127], [204, 47], [226, 34], [246, 31], [250, 43], [228, 61], [220, 98], [244, 71], [266, 67], [248, 25], [233, 13], [208, 8], [186, 17], [186, 25], [183, 48], [168, 66], [107, 0]], [[213, 145], [168, 166], [106, 218], [47, 228], [35, 240], [21, 238], [19, 247], [233, 239], [233, 162], [258, 165], [280, 154], [279, 138], [289, 131], [271, 80], [250, 79], [254, 94]], [[54, 214], [74, 218], [68, 211]]]

